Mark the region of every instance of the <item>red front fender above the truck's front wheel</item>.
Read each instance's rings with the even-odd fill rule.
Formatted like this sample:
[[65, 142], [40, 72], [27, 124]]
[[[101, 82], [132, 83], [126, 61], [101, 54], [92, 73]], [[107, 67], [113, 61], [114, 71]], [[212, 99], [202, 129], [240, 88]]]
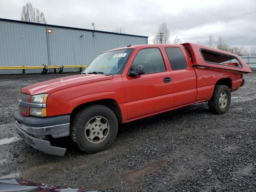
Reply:
[[122, 78], [78, 85], [51, 93], [47, 99], [47, 116], [70, 114], [76, 106], [102, 99], [125, 103]]

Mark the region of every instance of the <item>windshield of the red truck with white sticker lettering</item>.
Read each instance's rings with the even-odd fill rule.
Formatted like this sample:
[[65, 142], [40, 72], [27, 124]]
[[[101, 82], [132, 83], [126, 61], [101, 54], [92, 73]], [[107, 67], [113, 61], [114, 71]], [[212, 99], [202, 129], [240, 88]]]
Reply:
[[83, 70], [84, 74], [122, 74], [126, 62], [133, 49], [110, 51], [98, 55], [89, 66]]

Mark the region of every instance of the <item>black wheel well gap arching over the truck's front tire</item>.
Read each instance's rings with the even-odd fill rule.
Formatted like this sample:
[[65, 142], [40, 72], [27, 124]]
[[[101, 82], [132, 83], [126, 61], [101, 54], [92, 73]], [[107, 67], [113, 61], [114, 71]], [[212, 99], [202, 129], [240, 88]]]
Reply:
[[77, 112], [79, 112], [82, 108], [85, 108], [86, 106], [90, 106], [90, 105], [95, 105], [95, 104], [104, 105], [104, 106], [110, 108], [116, 114], [118, 124], [122, 123], [122, 114], [121, 114], [120, 108], [118, 106], [118, 103], [113, 99], [102, 99], [102, 100], [97, 100], [97, 101], [92, 101], [92, 102], [81, 104], [73, 109], [73, 111], [71, 112], [71, 118]]

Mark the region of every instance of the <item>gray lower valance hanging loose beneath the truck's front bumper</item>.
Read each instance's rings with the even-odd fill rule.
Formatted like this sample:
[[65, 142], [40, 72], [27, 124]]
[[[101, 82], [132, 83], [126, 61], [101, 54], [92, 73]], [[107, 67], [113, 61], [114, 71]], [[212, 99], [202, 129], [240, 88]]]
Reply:
[[65, 148], [51, 146], [49, 141], [40, 140], [28, 135], [25, 131], [20, 129], [18, 126], [16, 126], [16, 130], [18, 134], [20, 134], [22, 139], [26, 141], [27, 144], [36, 148], [39, 151], [42, 151], [44, 153], [51, 154], [51, 155], [58, 155], [58, 156], [64, 156], [66, 152]]

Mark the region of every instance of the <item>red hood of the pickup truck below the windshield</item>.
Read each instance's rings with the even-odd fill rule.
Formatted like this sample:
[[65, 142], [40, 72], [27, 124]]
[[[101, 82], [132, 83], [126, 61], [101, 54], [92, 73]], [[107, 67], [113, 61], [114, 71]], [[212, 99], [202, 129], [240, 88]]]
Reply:
[[110, 80], [113, 76], [105, 76], [101, 74], [80, 74], [72, 75], [67, 77], [61, 77], [57, 79], [52, 79], [48, 81], [43, 81], [36, 83], [27, 87], [22, 88], [21, 92], [36, 95], [42, 93], [52, 93], [61, 89], [69, 88], [72, 86], [78, 86], [82, 84]]

